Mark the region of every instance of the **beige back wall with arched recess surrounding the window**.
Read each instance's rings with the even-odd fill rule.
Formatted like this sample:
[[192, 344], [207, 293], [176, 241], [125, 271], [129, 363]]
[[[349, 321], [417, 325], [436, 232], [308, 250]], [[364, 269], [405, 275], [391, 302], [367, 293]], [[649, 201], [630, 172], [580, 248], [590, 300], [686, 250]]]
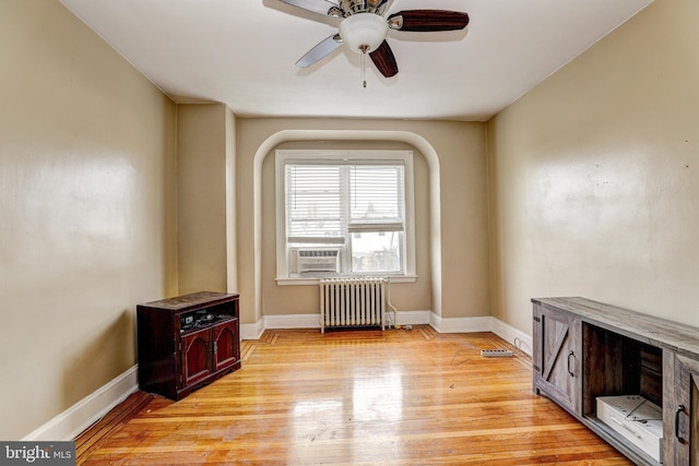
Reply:
[[[429, 174], [424, 154], [416, 151], [416, 228], [417, 271], [415, 284], [398, 284], [393, 287], [392, 301], [401, 311], [433, 310], [435, 299], [441, 303], [442, 318], [487, 315], [488, 303], [488, 238], [487, 188], [485, 162], [485, 130], [482, 123], [425, 122], [425, 121], [371, 121], [318, 120], [318, 119], [238, 119], [238, 274], [240, 307], [244, 323], [258, 322], [262, 315], [288, 313], [317, 313], [318, 292], [313, 286], [277, 286], [275, 276], [274, 227], [274, 174], [273, 151], [264, 152], [261, 164], [261, 190], [263, 208], [259, 271], [256, 271], [254, 241], [254, 157], [264, 142], [280, 132], [324, 131], [325, 139], [296, 141], [294, 147], [337, 146], [353, 147], [406, 146], [399, 133], [417, 134], [429, 143], [437, 154], [441, 191], [437, 203], [441, 210], [441, 246], [437, 274], [431, 268], [431, 243], [435, 235], [430, 226]], [[344, 132], [363, 133], [359, 139], [343, 139]], [[366, 142], [371, 132], [395, 132], [394, 139]], [[283, 144], [286, 142], [281, 139]], [[334, 142], [329, 142], [335, 140]], [[363, 140], [365, 142], [358, 142]], [[323, 142], [324, 141], [324, 142]], [[275, 147], [279, 146], [275, 145]], [[258, 155], [260, 156], [260, 155]], [[436, 277], [438, 283], [436, 283]], [[256, 292], [256, 280], [259, 291]], [[438, 296], [436, 296], [438, 295]], [[256, 299], [261, 302], [256, 302]]]

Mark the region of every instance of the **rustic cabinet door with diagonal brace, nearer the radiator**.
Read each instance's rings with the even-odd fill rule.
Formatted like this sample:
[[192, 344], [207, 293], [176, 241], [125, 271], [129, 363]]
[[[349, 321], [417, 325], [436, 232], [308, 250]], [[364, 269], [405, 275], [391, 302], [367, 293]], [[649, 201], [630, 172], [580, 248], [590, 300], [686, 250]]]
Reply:
[[581, 414], [581, 323], [564, 312], [534, 306], [534, 391]]

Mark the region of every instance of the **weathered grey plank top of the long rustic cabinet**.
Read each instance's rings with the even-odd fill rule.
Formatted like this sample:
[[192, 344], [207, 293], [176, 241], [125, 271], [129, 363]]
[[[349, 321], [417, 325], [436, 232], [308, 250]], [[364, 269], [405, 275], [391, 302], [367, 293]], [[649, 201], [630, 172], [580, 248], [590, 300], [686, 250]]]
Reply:
[[545, 308], [578, 315], [583, 322], [611, 330], [639, 342], [696, 358], [699, 355], [699, 328], [666, 319], [580, 297], [533, 298]]

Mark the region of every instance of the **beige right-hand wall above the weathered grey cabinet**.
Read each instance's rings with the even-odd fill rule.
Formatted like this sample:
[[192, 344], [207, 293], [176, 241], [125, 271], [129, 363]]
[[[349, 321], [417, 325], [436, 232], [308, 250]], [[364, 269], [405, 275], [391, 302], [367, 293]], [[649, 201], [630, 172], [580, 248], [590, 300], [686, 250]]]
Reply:
[[697, 17], [655, 0], [490, 121], [497, 318], [576, 295], [699, 325]]

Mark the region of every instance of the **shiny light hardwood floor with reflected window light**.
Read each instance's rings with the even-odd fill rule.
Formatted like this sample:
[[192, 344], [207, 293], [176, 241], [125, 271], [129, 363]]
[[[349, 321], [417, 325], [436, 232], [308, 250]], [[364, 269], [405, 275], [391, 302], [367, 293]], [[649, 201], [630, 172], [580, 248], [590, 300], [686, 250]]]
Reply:
[[82, 465], [628, 465], [490, 333], [268, 331], [180, 402], [137, 392], [76, 439]]

